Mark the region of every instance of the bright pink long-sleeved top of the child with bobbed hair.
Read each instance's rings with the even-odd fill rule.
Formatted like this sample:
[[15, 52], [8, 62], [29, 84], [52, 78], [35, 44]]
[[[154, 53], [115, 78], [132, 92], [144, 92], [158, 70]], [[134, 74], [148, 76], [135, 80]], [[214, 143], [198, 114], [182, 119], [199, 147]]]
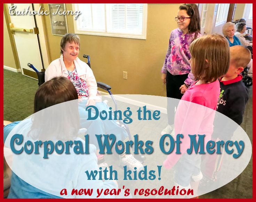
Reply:
[[[181, 154], [175, 154], [175, 147], [175, 150], [163, 162], [167, 169], [172, 168], [182, 154], [190, 148], [188, 135], [206, 135], [205, 143], [211, 139], [215, 110], [220, 94], [219, 81], [198, 85], [196, 83], [197, 81], [186, 90], [178, 104], [174, 121], [175, 137], [177, 134], [183, 134], [184, 137], [181, 139]], [[174, 139], [176, 140], [176, 138]]]

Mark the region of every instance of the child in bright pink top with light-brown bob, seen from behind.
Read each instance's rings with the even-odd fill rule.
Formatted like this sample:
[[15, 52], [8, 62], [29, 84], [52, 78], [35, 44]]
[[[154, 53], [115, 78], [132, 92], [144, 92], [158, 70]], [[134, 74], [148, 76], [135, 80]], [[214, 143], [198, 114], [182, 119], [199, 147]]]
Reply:
[[[218, 78], [229, 68], [229, 51], [226, 39], [219, 34], [203, 36], [190, 45], [191, 71], [196, 81], [186, 90], [175, 115], [175, 135], [184, 136], [181, 139], [181, 154], [172, 152], [163, 162], [167, 169], [177, 163], [174, 180], [180, 188], [190, 188], [191, 179], [197, 181], [197, 185], [202, 179], [201, 156], [187, 149], [190, 148], [191, 135], [195, 135], [198, 141], [197, 135], [205, 134], [205, 143], [211, 139], [220, 93]], [[197, 186], [192, 188], [195, 194]]]

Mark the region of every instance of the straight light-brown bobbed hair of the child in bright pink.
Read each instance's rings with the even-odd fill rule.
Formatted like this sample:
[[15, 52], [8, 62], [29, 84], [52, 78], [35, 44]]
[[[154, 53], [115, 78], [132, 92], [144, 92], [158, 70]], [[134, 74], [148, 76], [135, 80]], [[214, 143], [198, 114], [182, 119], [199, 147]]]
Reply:
[[216, 81], [229, 70], [229, 43], [220, 34], [209, 34], [190, 45], [195, 80]]

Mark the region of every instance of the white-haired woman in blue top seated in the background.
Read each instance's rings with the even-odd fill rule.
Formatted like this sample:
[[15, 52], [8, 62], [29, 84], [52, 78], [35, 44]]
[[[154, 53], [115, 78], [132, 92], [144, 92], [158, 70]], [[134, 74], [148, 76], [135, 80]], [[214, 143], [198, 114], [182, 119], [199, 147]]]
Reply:
[[227, 41], [229, 42], [229, 46], [236, 46], [241, 45], [241, 42], [239, 41], [238, 37], [236, 37], [235, 34], [235, 24], [232, 22], [227, 22], [222, 27], [222, 33], [224, 37], [226, 37]]

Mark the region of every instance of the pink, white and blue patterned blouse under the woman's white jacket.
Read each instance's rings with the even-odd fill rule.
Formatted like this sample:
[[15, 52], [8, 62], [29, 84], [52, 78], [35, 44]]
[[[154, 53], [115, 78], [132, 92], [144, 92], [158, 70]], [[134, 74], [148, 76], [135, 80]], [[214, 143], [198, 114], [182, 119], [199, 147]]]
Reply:
[[86, 80], [79, 78], [76, 69], [74, 69], [73, 71], [68, 71], [68, 73], [69, 75], [67, 76], [67, 78], [72, 81], [75, 89], [77, 89], [78, 97], [89, 97], [89, 87], [87, 86]]

